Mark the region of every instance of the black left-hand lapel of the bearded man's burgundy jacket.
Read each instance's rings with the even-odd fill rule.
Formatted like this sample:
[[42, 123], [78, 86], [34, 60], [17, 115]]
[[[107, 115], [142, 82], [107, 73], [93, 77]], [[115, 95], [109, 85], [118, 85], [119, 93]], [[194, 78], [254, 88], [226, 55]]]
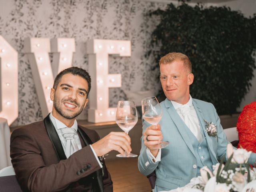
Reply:
[[59, 160], [67, 159], [65, 152], [63, 150], [62, 144], [60, 142], [58, 133], [56, 132], [54, 125], [52, 124], [52, 121], [50, 120], [50, 114], [48, 114], [48, 116], [46, 116], [46, 118], [44, 118], [44, 126], [45, 126], [46, 132], [52, 142], [54, 150], [58, 156], [58, 159]]

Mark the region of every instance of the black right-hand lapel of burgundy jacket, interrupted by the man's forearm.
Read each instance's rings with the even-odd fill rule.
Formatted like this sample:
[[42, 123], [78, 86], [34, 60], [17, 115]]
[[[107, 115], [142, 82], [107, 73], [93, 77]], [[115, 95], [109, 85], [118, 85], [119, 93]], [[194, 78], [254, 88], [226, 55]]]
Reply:
[[[86, 144], [86, 146], [92, 144], [92, 140], [88, 137], [88, 135], [78, 126], [77, 128], [78, 134], [80, 134], [82, 140]], [[96, 177], [96, 182], [93, 184], [93, 192], [103, 192], [103, 178], [102, 178], [102, 170], [97, 170], [96, 172], [93, 173], [94, 176]]]

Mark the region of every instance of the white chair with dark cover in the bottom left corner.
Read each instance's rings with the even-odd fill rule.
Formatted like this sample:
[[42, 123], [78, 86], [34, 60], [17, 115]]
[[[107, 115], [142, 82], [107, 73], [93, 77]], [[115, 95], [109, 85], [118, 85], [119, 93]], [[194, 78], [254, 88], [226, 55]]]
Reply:
[[1, 192], [22, 192], [15, 177], [12, 166], [0, 170], [0, 191]]

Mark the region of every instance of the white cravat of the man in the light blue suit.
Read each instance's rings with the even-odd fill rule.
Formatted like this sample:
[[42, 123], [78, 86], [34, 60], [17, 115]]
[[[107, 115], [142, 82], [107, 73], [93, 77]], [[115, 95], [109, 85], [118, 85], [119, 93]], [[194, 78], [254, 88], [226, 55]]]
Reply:
[[182, 114], [184, 118], [183, 119], [184, 123], [186, 124], [186, 126], [188, 126], [190, 131], [194, 134], [194, 136], [197, 138], [198, 142], [200, 143], [203, 140], [203, 136], [200, 131], [200, 127], [198, 128], [195, 119], [190, 114], [189, 104], [184, 104], [180, 106], [177, 110], [180, 112], [180, 114]]

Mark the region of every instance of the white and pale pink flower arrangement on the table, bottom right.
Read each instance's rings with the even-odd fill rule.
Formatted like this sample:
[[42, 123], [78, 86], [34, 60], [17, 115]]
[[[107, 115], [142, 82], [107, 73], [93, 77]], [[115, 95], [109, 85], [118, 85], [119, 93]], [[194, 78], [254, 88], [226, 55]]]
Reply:
[[[226, 164], [223, 164], [223, 158], [220, 163], [212, 166], [213, 172], [207, 167], [201, 168], [202, 180], [191, 190], [193, 192], [256, 192], [256, 172], [247, 163], [251, 153], [242, 148], [233, 150], [232, 144], [228, 144]], [[242, 164], [247, 171], [242, 169]], [[187, 189], [183, 192], [191, 190]]]

